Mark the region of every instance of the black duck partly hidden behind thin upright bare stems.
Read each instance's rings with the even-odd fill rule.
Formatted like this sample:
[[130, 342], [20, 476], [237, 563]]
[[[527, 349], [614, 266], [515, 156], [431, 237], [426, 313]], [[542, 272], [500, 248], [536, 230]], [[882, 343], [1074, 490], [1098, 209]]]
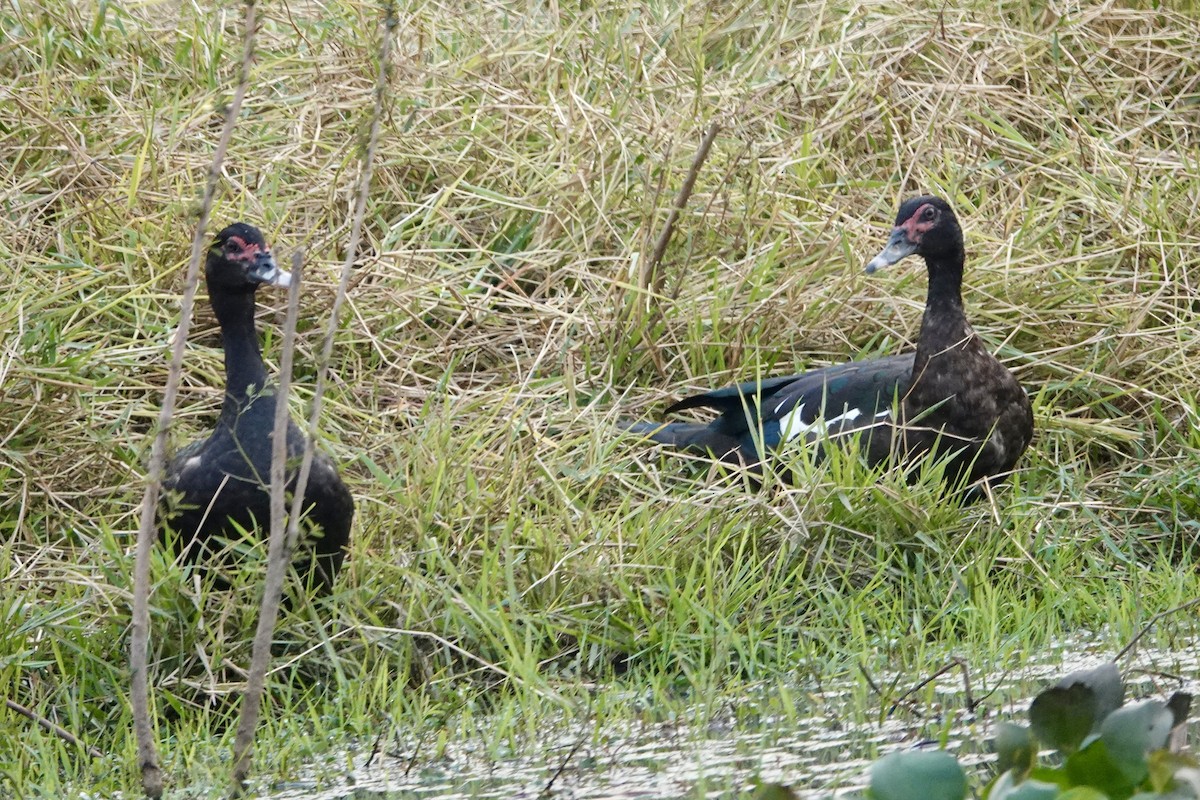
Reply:
[[[217, 234], [205, 261], [205, 281], [224, 347], [226, 393], [216, 429], [184, 447], [167, 465], [161, 518], [187, 561], [211, 558], [240, 530], [270, 527], [271, 431], [276, 392], [254, 331], [254, 293], [263, 284], [287, 287], [253, 225], [235, 223]], [[295, 486], [305, 434], [288, 422], [288, 492]], [[318, 593], [328, 593], [342, 566], [354, 518], [354, 499], [322, 452], [313, 455], [305, 491], [305, 524], [294, 567]], [[163, 530], [167, 535], [167, 531]]]

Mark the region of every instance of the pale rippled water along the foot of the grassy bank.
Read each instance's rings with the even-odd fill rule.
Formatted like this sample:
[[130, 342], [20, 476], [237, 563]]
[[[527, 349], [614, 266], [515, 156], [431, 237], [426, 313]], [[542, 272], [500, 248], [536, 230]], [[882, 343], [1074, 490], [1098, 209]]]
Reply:
[[[880, 721], [846, 718], [854, 706], [850, 692], [862, 682], [828, 687], [790, 687], [793, 704], [809, 716], [785, 720], [757, 712], [779, 709], [766, 693], [731, 698], [728, 708], [702, 727], [678, 723], [581, 726], [564, 722], [547, 729], [521, 752], [498, 759], [484, 741], [452, 742], [431, 759], [415, 738], [394, 738], [365, 766], [368, 752], [356, 753], [355, 769], [340, 787], [314, 792], [314, 784], [293, 784], [271, 800], [401, 800], [407, 798], [570, 798], [622, 800], [733, 796], [756, 781], [779, 782], [805, 794], [841, 794], [862, 788], [865, 768], [877, 756], [911, 747], [938, 747], [959, 753], [964, 763], [986, 760], [976, 742], [985, 742], [996, 720], [1020, 717], [1034, 692], [1076, 669], [1097, 667], [1111, 657], [1092, 644], [1096, 638], [1064, 642], [1042, 666], [1025, 666], [1019, 675], [971, 675], [968, 714], [961, 672], [947, 672], [929, 687], [905, 698]], [[1200, 694], [1200, 640], [1183, 642], [1170, 652], [1144, 651], [1121, 664], [1129, 697], [1166, 697], [1183, 690]], [[872, 675], [878, 686], [895, 686], [890, 706], [924, 676]], [[994, 691], [995, 690], [995, 691]], [[986, 694], [986, 697], [984, 697]], [[799, 698], [799, 699], [797, 699]], [[635, 703], [636, 699], [631, 699]], [[736, 704], [736, 711], [733, 709]], [[881, 703], [882, 705], [882, 703]], [[820, 711], [820, 712], [817, 712]], [[854, 712], [854, 716], [866, 716]], [[1194, 730], [1192, 740], [1195, 739]], [[983, 747], [985, 750], [985, 746]], [[329, 786], [328, 780], [322, 782]]]

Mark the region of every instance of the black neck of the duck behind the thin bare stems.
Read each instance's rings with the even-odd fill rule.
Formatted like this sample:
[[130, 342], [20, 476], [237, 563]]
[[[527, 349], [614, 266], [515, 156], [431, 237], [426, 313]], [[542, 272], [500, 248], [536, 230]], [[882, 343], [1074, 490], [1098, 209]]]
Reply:
[[253, 408], [256, 416], [275, 414], [275, 397], [264, 392], [266, 367], [254, 331], [254, 293], [215, 293], [212, 311], [221, 324], [226, 359], [226, 396], [221, 422], [236, 428]]

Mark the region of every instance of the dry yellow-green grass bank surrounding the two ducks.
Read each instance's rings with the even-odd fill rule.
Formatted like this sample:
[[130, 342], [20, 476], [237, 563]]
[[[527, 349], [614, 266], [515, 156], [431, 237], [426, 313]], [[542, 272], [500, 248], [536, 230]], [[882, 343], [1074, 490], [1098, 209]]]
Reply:
[[[299, 414], [379, 19], [353, 2], [263, 14], [214, 219], [308, 253]], [[0, 691], [121, 754], [126, 554], [238, 18], [0, 11]], [[436, 703], [503, 674], [566, 694], [625, 655], [650, 680], [838, 672], [880, 636], [1021, 651], [1072, 627], [1128, 633], [1195, 593], [1192, 19], [1111, 4], [427, 2], [401, 8], [397, 42], [323, 419], [360, 517], [331, 638], [295, 667], [334, 654], [337, 680], [366, 681], [328, 712], [336, 726], [365, 729], [395, 686]], [[660, 267], [662, 314], [646, 318], [640, 265], [712, 122]], [[745, 493], [613, 443], [618, 416], [691, 389], [911, 344], [924, 276], [862, 264], [918, 191], [958, 209], [968, 313], [1036, 398], [1033, 451], [994, 507], [942, 509], [930, 486], [852, 463]], [[272, 359], [283, 302], [264, 300]], [[220, 397], [206, 309], [198, 323], [176, 443]], [[188, 691], [230, 688], [217, 681], [245, 663], [250, 627], [211, 597], [198, 622], [178, 570], [157, 569], [160, 702], [191, 720]], [[910, 663], [923, 646], [872, 651]], [[203, 752], [196, 724], [168, 772]], [[67, 751], [12, 757], [43, 784], [86, 770]]]

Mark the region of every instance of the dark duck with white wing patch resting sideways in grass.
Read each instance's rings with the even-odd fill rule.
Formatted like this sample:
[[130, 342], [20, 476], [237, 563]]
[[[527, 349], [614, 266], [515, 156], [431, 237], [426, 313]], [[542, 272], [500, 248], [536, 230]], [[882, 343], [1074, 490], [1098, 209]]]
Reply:
[[868, 272], [925, 259], [929, 294], [917, 351], [750, 381], [686, 397], [667, 414], [712, 408], [712, 422], [634, 422], [629, 429], [679, 450], [757, 467], [763, 451], [860, 434], [869, 463], [946, 457], [946, 481], [1003, 481], [1033, 438], [1028, 396], [971, 330], [962, 312], [962, 229], [950, 206], [918, 197], [900, 206], [892, 237]]

